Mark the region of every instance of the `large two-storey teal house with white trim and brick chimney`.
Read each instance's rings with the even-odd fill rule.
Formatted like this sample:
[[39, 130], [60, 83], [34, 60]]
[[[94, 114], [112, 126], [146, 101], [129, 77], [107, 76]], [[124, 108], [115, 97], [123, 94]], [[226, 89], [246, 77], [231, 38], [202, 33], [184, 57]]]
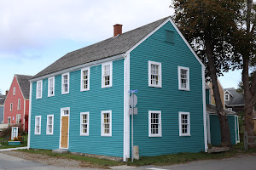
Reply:
[[207, 151], [205, 67], [170, 17], [68, 53], [32, 77], [28, 147], [131, 157]]

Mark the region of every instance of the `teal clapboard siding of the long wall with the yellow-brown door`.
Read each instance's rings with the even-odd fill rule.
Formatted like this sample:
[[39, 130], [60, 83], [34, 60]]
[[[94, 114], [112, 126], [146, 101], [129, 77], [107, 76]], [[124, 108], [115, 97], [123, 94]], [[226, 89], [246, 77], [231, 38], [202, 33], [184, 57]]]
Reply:
[[[47, 97], [48, 80], [43, 80], [43, 98], [36, 99], [32, 84], [31, 148], [59, 148], [61, 108], [70, 107], [69, 151], [105, 156], [123, 156], [124, 59], [113, 61], [113, 87], [102, 88], [102, 65], [90, 67], [90, 91], [80, 92], [80, 71], [70, 72], [69, 94], [61, 94], [61, 75], [55, 77], [55, 96]], [[101, 111], [112, 110], [112, 137], [101, 136]], [[80, 136], [80, 112], [90, 112], [89, 136]], [[54, 114], [54, 134], [46, 135], [46, 119]], [[42, 116], [41, 135], [34, 134], [35, 116]]]

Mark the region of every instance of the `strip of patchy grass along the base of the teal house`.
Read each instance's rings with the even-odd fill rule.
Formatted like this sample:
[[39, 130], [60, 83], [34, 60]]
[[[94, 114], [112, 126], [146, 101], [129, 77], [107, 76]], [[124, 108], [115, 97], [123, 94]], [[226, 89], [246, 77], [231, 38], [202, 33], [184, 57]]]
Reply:
[[243, 143], [241, 143], [241, 144], [235, 145], [234, 150], [227, 151], [227, 152], [213, 153], [213, 154], [207, 154], [205, 152], [178, 153], [178, 154], [172, 154], [172, 155], [166, 155], [166, 156], [147, 156], [147, 157], [140, 157], [140, 160], [134, 160], [134, 162], [131, 162], [131, 160], [127, 162], [109, 161], [109, 160], [99, 159], [95, 157], [77, 156], [70, 153], [53, 154], [51, 150], [19, 150], [19, 151], [34, 153], [34, 154], [44, 154], [47, 156], [62, 157], [62, 158], [79, 160], [79, 161], [88, 161], [91, 164], [95, 164], [97, 166], [111, 167], [111, 166], [118, 166], [118, 165], [124, 165], [124, 164], [130, 165], [130, 166], [146, 166], [146, 165], [166, 166], [166, 165], [184, 163], [188, 161], [223, 159], [223, 158], [237, 156], [240, 154], [256, 153], [256, 148], [253, 148], [250, 150], [244, 150]]

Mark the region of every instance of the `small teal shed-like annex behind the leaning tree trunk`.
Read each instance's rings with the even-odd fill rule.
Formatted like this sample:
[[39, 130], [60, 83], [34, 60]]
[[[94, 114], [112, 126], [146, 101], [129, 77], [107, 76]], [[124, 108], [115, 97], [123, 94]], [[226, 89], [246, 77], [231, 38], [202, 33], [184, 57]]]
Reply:
[[[228, 116], [232, 144], [240, 143], [238, 116], [234, 111], [224, 109]], [[207, 105], [207, 138], [208, 144], [220, 145], [221, 135], [218, 122], [217, 109], [215, 105]]]

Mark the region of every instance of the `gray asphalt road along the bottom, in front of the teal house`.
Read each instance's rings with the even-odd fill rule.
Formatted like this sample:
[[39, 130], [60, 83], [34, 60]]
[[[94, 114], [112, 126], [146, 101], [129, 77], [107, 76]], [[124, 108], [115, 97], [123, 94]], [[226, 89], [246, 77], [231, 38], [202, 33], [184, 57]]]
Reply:
[[[54, 167], [43, 165], [33, 161], [26, 161], [15, 156], [8, 156], [0, 153], [0, 170], [66, 170], [71, 168]], [[74, 170], [90, 168], [72, 168]], [[238, 156], [222, 160], [192, 161], [185, 164], [166, 166], [166, 167], [128, 167], [120, 166], [113, 169], [151, 169], [151, 170], [256, 170], [256, 155]], [[96, 170], [96, 169], [94, 169]]]

